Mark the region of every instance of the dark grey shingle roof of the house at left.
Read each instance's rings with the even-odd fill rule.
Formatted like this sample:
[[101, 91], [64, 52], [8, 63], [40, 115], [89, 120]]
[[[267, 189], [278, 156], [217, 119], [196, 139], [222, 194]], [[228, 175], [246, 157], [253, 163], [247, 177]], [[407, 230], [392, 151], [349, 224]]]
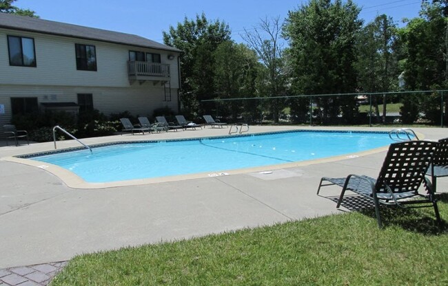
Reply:
[[175, 47], [163, 45], [133, 34], [89, 28], [80, 25], [72, 25], [2, 12], [0, 12], [0, 28], [181, 52], [181, 50], [178, 50]]

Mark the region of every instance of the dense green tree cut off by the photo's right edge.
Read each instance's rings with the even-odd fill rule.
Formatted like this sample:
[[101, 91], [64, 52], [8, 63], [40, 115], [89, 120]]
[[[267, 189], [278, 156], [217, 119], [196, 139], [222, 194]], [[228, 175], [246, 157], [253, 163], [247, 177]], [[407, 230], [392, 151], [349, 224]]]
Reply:
[[[443, 1], [445, 2], [445, 1]], [[406, 45], [405, 82], [410, 90], [447, 88], [447, 33], [446, 2], [422, 3], [420, 17], [412, 19], [400, 30]], [[405, 100], [405, 105], [416, 104], [425, 118], [440, 123], [440, 95], [420, 97], [420, 102]], [[405, 106], [405, 108], [407, 108]], [[411, 120], [412, 118], [410, 118]], [[414, 118], [415, 120], [416, 118]]]

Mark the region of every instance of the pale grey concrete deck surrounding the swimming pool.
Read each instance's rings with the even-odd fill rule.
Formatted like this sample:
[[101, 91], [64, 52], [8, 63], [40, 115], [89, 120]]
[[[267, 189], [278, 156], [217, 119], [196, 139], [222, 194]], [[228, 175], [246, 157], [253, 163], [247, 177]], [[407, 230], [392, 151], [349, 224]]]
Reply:
[[[365, 130], [250, 126], [250, 133], [281, 130]], [[416, 128], [427, 140], [448, 137], [448, 129]], [[165, 140], [227, 135], [228, 129], [187, 130], [145, 135], [87, 138], [86, 144], [124, 140]], [[79, 146], [74, 140], [58, 148]], [[138, 186], [69, 188], [46, 170], [6, 161], [5, 157], [54, 149], [53, 142], [0, 147], [0, 272], [9, 267], [68, 261], [77, 254], [146, 243], [189, 239], [291, 220], [342, 213], [334, 197], [339, 188], [316, 195], [320, 177], [360, 173], [376, 177], [385, 151], [300, 166], [265, 168], [216, 177], [185, 178]], [[448, 180], [438, 181], [447, 190]], [[1, 273], [0, 273], [1, 274]]]

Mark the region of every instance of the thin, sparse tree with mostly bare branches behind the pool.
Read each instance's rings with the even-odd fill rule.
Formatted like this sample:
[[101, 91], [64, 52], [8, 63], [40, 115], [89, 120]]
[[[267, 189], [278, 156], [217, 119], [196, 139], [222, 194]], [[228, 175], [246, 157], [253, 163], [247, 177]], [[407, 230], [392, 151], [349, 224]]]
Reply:
[[[285, 95], [285, 73], [283, 72], [283, 45], [280, 36], [282, 24], [280, 18], [272, 20], [264, 19], [253, 32], [245, 29], [245, 34], [241, 37], [247, 45], [256, 51], [258, 58], [266, 68], [265, 78], [267, 97]], [[267, 36], [267, 39], [265, 39]], [[278, 123], [281, 102], [278, 98], [270, 101], [272, 118]]]

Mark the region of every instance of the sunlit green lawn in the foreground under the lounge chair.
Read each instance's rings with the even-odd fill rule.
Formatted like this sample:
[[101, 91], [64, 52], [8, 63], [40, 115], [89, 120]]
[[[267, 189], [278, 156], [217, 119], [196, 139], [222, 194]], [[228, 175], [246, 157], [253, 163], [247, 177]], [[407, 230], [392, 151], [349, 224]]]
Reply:
[[[448, 196], [438, 203], [448, 217]], [[77, 256], [52, 285], [448, 285], [432, 208], [371, 209]]]

